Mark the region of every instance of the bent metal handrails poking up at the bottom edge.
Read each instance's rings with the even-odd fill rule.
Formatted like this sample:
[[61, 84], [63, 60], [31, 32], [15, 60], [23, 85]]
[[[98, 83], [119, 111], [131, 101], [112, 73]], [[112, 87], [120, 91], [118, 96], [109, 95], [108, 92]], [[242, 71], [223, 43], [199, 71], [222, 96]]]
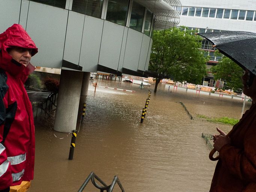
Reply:
[[[100, 186], [98, 183], [96, 183], [95, 181], [98, 180], [103, 186]], [[107, 185], [106, 183], [104, 183], [94, 172], [91, 172], [89, 174], [89, 176], [86, 178], [86, 180], [84, 181], [84, 183], [82, 184], [82, 186], [80, 187], [80, 189], [77, 192], [82, 192], [84, 190], [84, 187], [86, 187], [86, 185], [89, 183], [89, 181], [92, 181], [92, 184], [100, 189], [100, 192], [104, 192], [104, 190], [106, 190], [107, 192], [112, 192], [114, 189], [115, 184], [117, 183], [118, 186], [120, 187], [120, 189], [122, 190], [122, 192], [125, 192], [125, 190], [123, 189], [123, 186], [119, 180], [119, 178], [117, 177], [117, 175], [114, 176], [114, 179], [112, 181], [112, 183], [110, 185]]]

